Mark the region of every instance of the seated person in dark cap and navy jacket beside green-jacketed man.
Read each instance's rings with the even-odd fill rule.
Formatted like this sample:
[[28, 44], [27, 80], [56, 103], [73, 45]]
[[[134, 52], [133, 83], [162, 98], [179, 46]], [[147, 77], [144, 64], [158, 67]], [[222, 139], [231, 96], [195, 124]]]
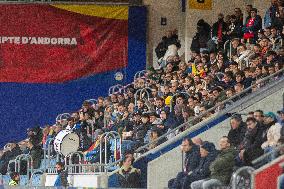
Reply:
[[213, 143], [204, 142], [200, 146], [200, 160], [196, 169], [188, 173], [183, 183], [184, 189], [190, 188], [192, 182], [197, 180], [206, 179], [210, 176], [210, 164], [215, 160], [217, 151]]

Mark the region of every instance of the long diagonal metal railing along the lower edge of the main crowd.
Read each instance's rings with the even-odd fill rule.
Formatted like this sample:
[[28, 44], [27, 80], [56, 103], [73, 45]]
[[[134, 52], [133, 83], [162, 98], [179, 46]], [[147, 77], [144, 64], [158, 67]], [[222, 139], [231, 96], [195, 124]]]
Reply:
[[[251, 91], [254, 91], [253, 89], [256, 87], [256, 88], [261, 88], [261, 87], [264, 87], [265, 84], [267, 84], [268, 81], [270, 81], [271, 79], [275, 80], [275, 77], [276, 76], [279, 76], [280, 74], [283, 74], [284, 72], [284, 68], [279, 70], [278, 72], [270, 75], [270, 76], [267, 76], [263, 79], [260, 79], [258, 80], [255, 84], [252, 84], [250, 87], [246, 88], [245, 90], [243, 90], [241, 93], [238, 93], [238, 94], [235, 94], [234, 96], [224, 100], [223, 102], [221, 103], [218, 103], [216, 104], [214, 107], [208, 109], [207, 111], [205, 112], [202, 112], [201, 114], [199, 114], [197, 117], [194, 117], [194, 118], [190, 118], [190, 120], [188, 122], [185, 122], [183, 124], [181, 124], [180, 126], [176, 127], [175, 129], [172, 129], [170, 130], [169, 132], [163, 134], [162, 136], [160, 136], [158, 139], [142, 146], [142, 147], [139, 147], [136, 152], [143, 152], [143, 151], [147, 151], [148, 147], [160, 140], [163, 140], [163, 139], [166, 139], [169, 135], [173, 135], [175, 134], [177, 131], [179, 131], [180, 129], [183, 129], [184, 127], [191, 127], [193, 126], [194, 124], [196, 123], [199, 123], [201, 120], [201, 118], [203, 118], [204, 116], [206, 116], [207, 114], [211, 113], [212, 111], [215, 111], [215, 114], [212, 115], [213, 117], [216, 116], [216, 114], [221, 110], [221, 109], [226, 109], [228, 108], [230, 105], [232, 105], [233, 103], [232, 102], [236, 102], [236, 99], [242, 99], [245, 95], [251, 93]], [[278, 78], [278, 79], [283, 79], [283, 76], [281, 78]], [[262, 84], [263, 85], [260, 85]], [[241, 98], [240, 98], [241, 97]], [[187, 128], [188, 129], [188, 128]]]

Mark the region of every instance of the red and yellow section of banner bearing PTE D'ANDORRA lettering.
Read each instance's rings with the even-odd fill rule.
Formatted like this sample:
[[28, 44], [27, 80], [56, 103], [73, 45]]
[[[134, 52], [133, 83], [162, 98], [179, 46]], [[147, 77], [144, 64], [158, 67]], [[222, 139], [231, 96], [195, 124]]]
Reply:
[[64, 82], [127, 64], [128, 7], [0, 9], [0, 82]]

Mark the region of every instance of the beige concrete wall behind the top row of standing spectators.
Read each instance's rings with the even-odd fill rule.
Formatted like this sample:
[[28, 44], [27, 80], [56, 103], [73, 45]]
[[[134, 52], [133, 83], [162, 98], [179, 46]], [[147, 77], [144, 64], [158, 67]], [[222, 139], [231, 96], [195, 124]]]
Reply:
[[[192, 37], [196, 33], [196, 23], [203, 18], [210, 25], [217, 20], [218, 13], [224, 15], [233, 14], [234, 8], [239, 7], [245, 13], [245, 6], [252, 4], [259, 10], [261, 16], [264, 15], [270, 6], [270, 0], [213, 0], [212, 10], [194, 10], [186, 6], [186, 12], [181, 11], [181, 0], [144, 0], [144, 5], [148, 6], [148, 52], [147, 62], [152, 65], [156, 62], [155, 47], [160, 42], [161, 37], [167, 30], [178, 29], [182, 48], [180, 55], [185, 53], [188, 60]], [[166, 17], [168, 24], [161, 26], [161, 17]]]

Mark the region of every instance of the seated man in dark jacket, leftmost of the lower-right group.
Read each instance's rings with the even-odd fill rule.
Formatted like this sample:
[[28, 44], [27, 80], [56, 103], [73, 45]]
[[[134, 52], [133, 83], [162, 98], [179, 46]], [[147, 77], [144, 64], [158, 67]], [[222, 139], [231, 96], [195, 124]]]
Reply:
[[181, 150], [185, 153], [184, 168], [177, 177], [168, 182], [168, 188], [181, 188], [189, 172], [198, 167], [200, 160], [200, 150], [190, 138], [185, 138], [181, 144]]

